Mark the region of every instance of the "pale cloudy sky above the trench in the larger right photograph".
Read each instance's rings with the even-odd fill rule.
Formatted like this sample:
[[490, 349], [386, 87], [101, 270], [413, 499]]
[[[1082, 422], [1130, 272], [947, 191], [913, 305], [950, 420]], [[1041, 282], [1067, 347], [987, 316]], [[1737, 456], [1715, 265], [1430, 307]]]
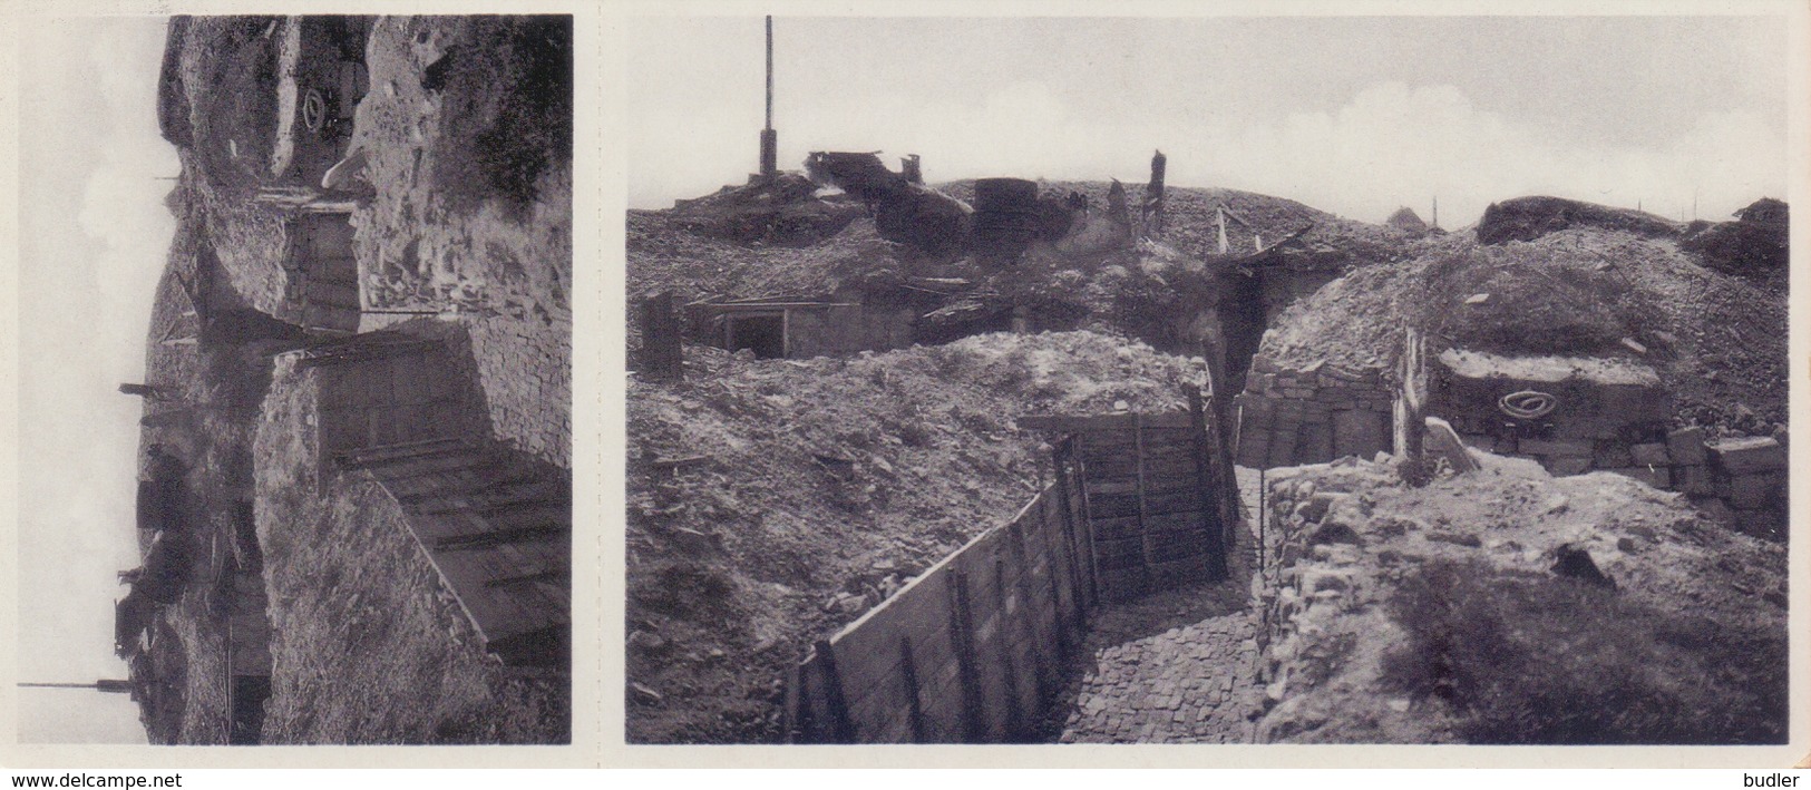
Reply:
[[[1786, 198], [1786, 20], [786, 18], [782, 169], [811, 150], [978, 176], [1231, 187], [1447, 228], [1554, 194], [1690, 219]], [[757, 169], [761, 18], [630, 20], [628, 203]]]

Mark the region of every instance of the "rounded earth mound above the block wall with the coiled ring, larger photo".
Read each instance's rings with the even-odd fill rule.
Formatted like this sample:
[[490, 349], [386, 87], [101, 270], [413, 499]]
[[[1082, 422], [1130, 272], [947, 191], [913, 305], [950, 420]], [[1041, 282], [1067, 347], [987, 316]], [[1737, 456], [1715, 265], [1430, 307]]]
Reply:
[[1284, 366], [1393, 368], [1407, 324], [1505, 355], [1641, 361], [1661, 373], [1682, 424], [1766, 433], [1786, 420], [1782, 288], [1706, 268], [1670, 239], [1601, 228], [1494, 246], [1454, 234], [1416, 250], [1302, 299], [1260, 353]]

